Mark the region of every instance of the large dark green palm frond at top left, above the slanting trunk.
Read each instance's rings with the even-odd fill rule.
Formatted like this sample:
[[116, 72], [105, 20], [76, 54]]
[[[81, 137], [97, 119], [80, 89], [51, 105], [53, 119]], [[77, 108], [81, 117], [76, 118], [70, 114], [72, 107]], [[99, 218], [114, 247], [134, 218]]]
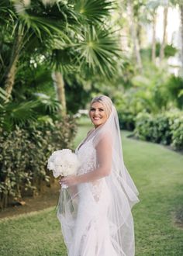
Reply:
[[70, 22], [78, 22], [78, 17], [73, 9], [63, 2], [44, 5], [41, 1], [32, 0], [30, 5], [25, 6], [22, 1], [16, 0], [14, 6], [24, 26], [33, 29], [40, 39], [43, 39], [45, 34], [52, 37], [56, 33], [60, 35], [60, 40], [71, 43], [67, 36], [67, 26]]

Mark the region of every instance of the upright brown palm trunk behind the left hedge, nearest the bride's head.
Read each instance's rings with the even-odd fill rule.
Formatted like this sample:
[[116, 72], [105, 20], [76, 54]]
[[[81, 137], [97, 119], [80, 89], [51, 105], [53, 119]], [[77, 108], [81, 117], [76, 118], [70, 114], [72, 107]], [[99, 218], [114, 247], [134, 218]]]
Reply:
[[64, 79], [60, 72], [55, 71], [53, 74], [54, 85], [57, 89], [57, 99], [60, 102], [62, 108], [60, 109], [61, 116], [66, 115], [66, 99], [65, 99], [65, 88]]

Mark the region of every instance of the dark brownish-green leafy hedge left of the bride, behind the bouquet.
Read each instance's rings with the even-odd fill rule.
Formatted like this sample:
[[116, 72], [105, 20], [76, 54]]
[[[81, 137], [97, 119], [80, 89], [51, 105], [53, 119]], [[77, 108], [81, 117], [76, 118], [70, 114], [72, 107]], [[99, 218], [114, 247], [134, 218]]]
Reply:
[[54, 150], [71, 147], [76, 126], [67, 116], [54, 123], [39, 122], [28, 129], [0, 130], [0, 195], [1, 207], [9, 196], [21, 199], [25, 190], [40, 191], [49, 183], [47, 159]]

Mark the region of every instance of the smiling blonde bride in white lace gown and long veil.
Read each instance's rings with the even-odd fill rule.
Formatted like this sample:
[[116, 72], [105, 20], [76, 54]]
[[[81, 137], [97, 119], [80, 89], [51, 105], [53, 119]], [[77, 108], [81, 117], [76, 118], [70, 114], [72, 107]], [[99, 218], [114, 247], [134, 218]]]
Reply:
[[111, 99], [101, 95], [91, 101], [89, 116], [94, 129], [75, 150], [81, 167], [77, 175], [60, 179], [71, 195], [64, 199], [64, 213], [57, 214], [67, 253], [133, 256], [131, 207], [139, 200], [123, 162], [117, 112]]

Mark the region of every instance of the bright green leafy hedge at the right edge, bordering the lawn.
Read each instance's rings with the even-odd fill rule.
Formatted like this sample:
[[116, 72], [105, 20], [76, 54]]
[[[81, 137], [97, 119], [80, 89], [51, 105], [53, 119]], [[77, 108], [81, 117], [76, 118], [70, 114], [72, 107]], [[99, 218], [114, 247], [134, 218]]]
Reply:
[[140, 112], [136, 116], [134, 134], [140, 140], [170, 145], [176, 150], [183, 149], [182, 112], [162, 112], [153, 115]]

